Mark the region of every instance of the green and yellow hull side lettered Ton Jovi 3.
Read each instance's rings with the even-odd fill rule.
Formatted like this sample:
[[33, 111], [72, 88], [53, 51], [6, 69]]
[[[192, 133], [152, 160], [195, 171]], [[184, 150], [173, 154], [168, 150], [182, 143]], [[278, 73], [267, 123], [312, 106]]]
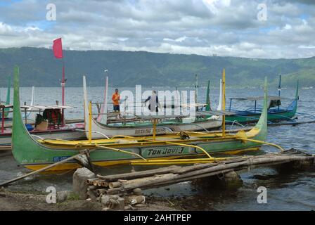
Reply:
[[[216, 143], [189, 143], [195, 146], [200, 146], [206, 150], [209, 150], [210, 153], [239, 153], [247, 150], [258, 150], [261, 144], [250, 143], [243, 144], [242, 141], [237, 143], [234, 140], [229, 141], [217, 141]], [[196, 150], [196, 148], [191, 147], [182, 147], [182, 146], [156, 146], [156, 147], [142, 147], [142, 148], [120, 148], [121, 150], [127, 150], [132, 153], [138, 153], [143, 158], [146, 159], [174, 159], [174, 158], [184, 158], [184, 157], [197, 157], [203, 155], [201, 150]], [[23, 162], [23, 166], [28, 169], [41, 169], [47, 165], [64, 160], [73, 155], [79, 153], [78, 150], [56, 150], [51, 148], [38, 150], [38, 155], [32, 155], [32, 158], [29, 158], [27, 155], [20, 158]], [[37, 160], [34, 160], [37, 158]], [[110, 150], [97, 149], [90, 153], [91, 163], [96, 166], [106, 167], [113, 165], [128, 165], [130, 160], [139, 160], [137, 157], [132, 157], [126, 153], [118, 153]], [[51, 171], [64, 170], [64, 169], [75, 169], [81, 167], [75, 160], [66, 162], [63, 165], [58, 165], [50, 169]]]

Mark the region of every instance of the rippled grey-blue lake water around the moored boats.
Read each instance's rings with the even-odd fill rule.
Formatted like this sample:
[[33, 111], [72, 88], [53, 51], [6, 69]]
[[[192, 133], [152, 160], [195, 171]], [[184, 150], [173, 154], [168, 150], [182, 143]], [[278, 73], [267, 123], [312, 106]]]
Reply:
[[[125, 88], [127, 90], [127, 88]], [[159, 90], [158, 88], [155, 88]], [[121, 91], [124, 88], [121, 89]], [[128, 89], [134, 91], [134, 89]], [[276, 95], [276, 87], [269, 88], [270, 95]], [[13, 91], [13, 90], [12, 90]], [[21, 102], [30, 103], [31, 88], [21, 88]], [[111, 94], [113, 89], [110, 90]], [[144, 90], [143, 90], [144, 91]], [[172, 91], [172, 90], [171, 90]], [[262, 89], [227, 89], [227, 96], [259, 96]], [[6, 89], [0, 89], [1, 99], [6, 96]], [[35, 90], [37, 104], [54, 105], [60, 101], [60, 88], [37, 88]], [[219, 90], [212, 89], [212, 103], [217, 105]], [[283, 89], [282, 96], [292, 98], [295, 89]], [[89, 98], [93, 101], [103, 101], [103, 88], [89, 88]], [[315, 115], [314, 108], [315, 89], [301, 89], [299, 113]], [[205, 101], [205, 89], [199, 91], [200, 102]], [[82, 89], [67, 88], [66, 103], [75, 108], [68, 110], [67, 118], [83, 117]], [[288, 105], [289, 100], [283, 101]], [[249, 108], [252, 103], [234, 102], [235, 108]], [[302, 116], [299, 115], [300, 120]], [[269, 127], [268, 140], [284, 148], [299, 148], [315, 153], [315, 124], [300, 124], [298, 126]], [[264, 151], [275, 151], [269, 146], [262, 148]], [[130, 167], [103, 168], [102, 174], [129, 172]], [[140, 169], [140, 168], [136, 168]], [[19, 167], [11, 153], [0, 153], [0, 182], [25, 174], [27, 169]], [[259, 175], [259, 176], [257, 176]], [[146, 191], [147, 194], [162, 196], [163, 198], [182, 198], [182, 204], [191, 205], [190, 209], [198, 210], [315, 210], [315, 169], [307, 172], [278, 172], [275, 169], [255, 169], [241, 174], [243, 186], [237, 191], [222, 191], [218, 188], [200, 186], [184, 182]], [[72, 172], [58, 175], [36, 175], [23, 181], [12, 184], [14, 190], [45, 191], [48, 186], [56, 186], [57, 191], [71, 188]], [[268, 203], [257, 203], [257, 187], [265, 186], [268, 190]]]

